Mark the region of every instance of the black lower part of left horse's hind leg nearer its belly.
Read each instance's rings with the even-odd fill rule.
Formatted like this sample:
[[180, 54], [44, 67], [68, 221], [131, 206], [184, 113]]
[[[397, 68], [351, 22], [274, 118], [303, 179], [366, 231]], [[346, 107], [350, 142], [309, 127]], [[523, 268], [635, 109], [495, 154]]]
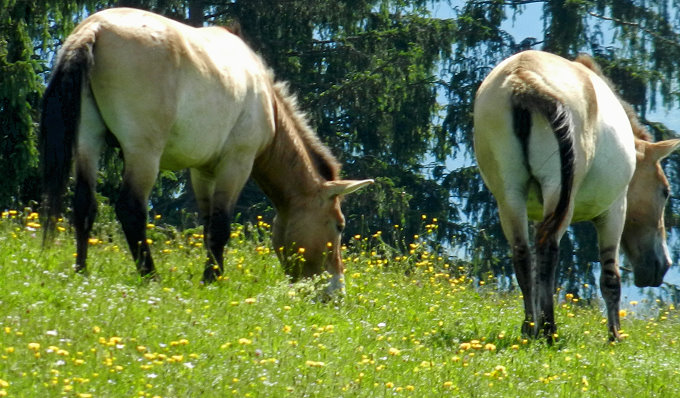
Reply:
[[129, 181], [123, 182], [116, 202], [116, 215], [123, 226], [130, 252], [142, 276], [154, 276], [156, 269], [146, 240], [147, 195], [135, 192]]

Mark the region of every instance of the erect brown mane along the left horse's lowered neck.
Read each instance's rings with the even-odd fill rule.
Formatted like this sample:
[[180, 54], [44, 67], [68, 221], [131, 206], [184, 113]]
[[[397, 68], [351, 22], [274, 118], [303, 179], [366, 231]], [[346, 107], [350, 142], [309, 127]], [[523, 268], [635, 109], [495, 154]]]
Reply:
[[[278, 110], [277, 124], [282, 119], [283, 124], [297, 132], [298, 137], [307, 150], [307, 154], [319, 175], [327, 181], [337, 180], [340, 174], [340, 163], [312, 131], [306, 115], [298, 108], [297, 99], [288, 90], [286, 83], [274, 84], [274, 94]], [[277, 129], [280, 126], [277, 126]]]

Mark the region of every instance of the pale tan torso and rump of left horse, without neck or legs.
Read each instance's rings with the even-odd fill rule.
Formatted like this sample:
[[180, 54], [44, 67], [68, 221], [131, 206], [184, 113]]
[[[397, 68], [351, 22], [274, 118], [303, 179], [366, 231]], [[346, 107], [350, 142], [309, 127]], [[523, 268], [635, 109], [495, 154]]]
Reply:
[[117, 8], [69, 40], [82, 36], [94, 36], [90, 87], [124, 153], [144, 148], [161, 168], [210, 169], [229, 152], [254, 157], [271, 140], [269, 72], [226, 29]]

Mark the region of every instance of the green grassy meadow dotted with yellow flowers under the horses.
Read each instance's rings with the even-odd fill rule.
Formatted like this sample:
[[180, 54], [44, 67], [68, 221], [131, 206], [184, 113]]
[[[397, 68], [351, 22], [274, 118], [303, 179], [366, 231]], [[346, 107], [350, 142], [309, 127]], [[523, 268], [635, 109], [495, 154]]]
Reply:
[[314, 283], [288, 283], [264, 223], [235, 229], [225, 278], [203, 286], [199, 236], [150, 229], [161, 280], [148, 282], [137, 276], [117, 225], [105, 224], [83, 276], [71, 268], [71, 232], [43, 251], [27, 218], [0, 220], [0, 396], [680, 391], [672, 307], [653, 318], [629, 312], [622, 320], [628, 337], [609, 343], [598, 308], [560, 301], [559, 340], [548, 346], [521, 337], [518, 292], [497, 291], [493, 278], [480, 287], [465, 266], [446, 264], [423, 245], [400, 254], [378, 236], [354, 237], [344, 251], [347, 296], [323, 303]]

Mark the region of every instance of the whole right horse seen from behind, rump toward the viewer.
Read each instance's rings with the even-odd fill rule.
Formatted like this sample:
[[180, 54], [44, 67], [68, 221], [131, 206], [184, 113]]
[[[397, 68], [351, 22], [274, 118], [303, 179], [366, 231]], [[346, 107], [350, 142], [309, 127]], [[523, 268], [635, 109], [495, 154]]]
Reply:
[[[619, 338], [619, 244], [637, 286], [662, 283], [670, 266], [663, 219], [670, 191], [659, 161], [680, 140], [650, 142], [590, 57], [570, 62], [526, 51], [499, 64], [479, 87], [474, 146], [512, 247], [524, 334], [542, 329], [552, 341], [559, 241], [570, 223], [591, 220], [609, 333]], [[528, 219], [538, 221], [535, 265]]]

